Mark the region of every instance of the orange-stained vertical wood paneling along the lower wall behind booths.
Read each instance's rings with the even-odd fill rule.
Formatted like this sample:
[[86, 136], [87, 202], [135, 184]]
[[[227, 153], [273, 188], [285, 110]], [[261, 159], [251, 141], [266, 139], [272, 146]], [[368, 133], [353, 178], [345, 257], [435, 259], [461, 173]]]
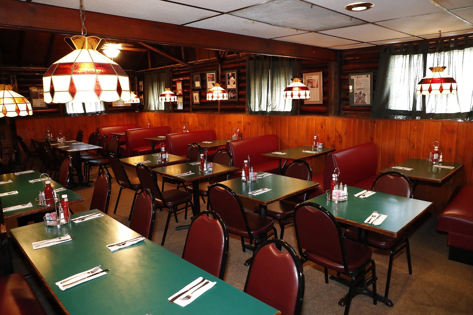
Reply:
[[[84, 140], [100, 125], [136, 122], [145, 127], [170, 126], [172, 132], [182, 131], [184, 123], [190, 131], [214, 129], [218, 138], [229, 138], [236, 128], [243, 137], [275, 133], [280, 149], [309, 145], [314, 133], [326, 147], [347, 148], [359, 143], [374, 141], [378, 150], [378, 169], [392, 166], [407, 158], [426, 158], [432, 142], [440, 142], [444, 160], [464, 163], [464, 184], [473, 183], [473, 122], [438, 120], [393, 120], [345, 118], [326, 116], [263, 116], [247, 114], [184, 114], [184, 113], [120, 113], [51, 119], [18, 119], [17, 133], [23, 139], [41, 138], [47, 126], [54, 134], [66, 131], [75, 138], [79, 129]], [[320, 170], [315, 170], [320, 171]]]

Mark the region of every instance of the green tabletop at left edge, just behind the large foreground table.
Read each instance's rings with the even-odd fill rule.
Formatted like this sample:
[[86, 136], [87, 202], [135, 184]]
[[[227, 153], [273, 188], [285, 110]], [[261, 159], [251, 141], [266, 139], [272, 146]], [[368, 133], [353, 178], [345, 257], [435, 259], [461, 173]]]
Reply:
[[[43, 182], [29, 183], [28, 181], [32, 179], [37, 179], [40, 175], [41, 173], [38, 171], [35, 171], [34, 173], [26, 173], [20, 175], [15, 175], [14, 173], [0, 175], [0, 181], [6, 181], [9, 179], [13, 181], [12, 183], [1, 184], [0, 193], [8, 193], [15, 190], [18, 191], [18, 194], [1, 197], [3, 209], [11, 206], [16, 206], [18, 204], [25, 204], [30, 201], [33, 204], [33, 207], [30, 208], [3, 212], [5, 218], [18, 218], [32, 213], [47, 212], [54, 208], [54, 205], [40, 207], [38, 205], [38, 201], [35, 201], [35, 199], [38, 198], [38, 193], [40, 191], [44, 191], [44, 184]], [[55, 188], [64, 187], [54, 182], [53, 180], [51, 180], [51, 186]], [[74, 193], [73, 191], [67, 188], [65, 191], [58, 192], [58, 195], [61, 194], [67, 194], [69, 204], [85, 201], [82, 196], [79, 196], [77, 193]]]

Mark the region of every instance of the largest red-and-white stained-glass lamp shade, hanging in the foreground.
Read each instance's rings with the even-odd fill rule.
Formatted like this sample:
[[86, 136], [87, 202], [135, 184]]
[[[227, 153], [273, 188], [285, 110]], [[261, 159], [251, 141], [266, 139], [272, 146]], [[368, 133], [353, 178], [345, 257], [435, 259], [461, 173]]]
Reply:
[[130, 100], [125, 71], [97, 51], [105, 40], [80, 35], [65, 40], [75, 50], [54, 62], [44, 74], [46, 103]]

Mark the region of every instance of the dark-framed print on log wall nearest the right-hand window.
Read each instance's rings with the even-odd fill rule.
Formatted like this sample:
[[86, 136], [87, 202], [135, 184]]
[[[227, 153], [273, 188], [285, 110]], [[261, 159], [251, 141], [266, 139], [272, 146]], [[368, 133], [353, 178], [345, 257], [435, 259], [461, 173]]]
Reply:
[[372, 106], [373, 72], [354, 73], [348, 76], [350, 106]]

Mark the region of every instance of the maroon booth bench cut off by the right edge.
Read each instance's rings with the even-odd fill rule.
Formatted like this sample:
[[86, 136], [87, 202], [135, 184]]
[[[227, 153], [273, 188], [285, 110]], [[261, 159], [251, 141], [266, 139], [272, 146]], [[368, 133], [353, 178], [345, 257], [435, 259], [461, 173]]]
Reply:
[[457, 187], [445, 209], [438, 215], [437, 221], [437, 229], [447, 232], [447, 245], [450, 246], [448, 258], [461, 261], [455, 256], [463, 256], [469, 264], [473, 264], [472, 196], [473, 186]]

